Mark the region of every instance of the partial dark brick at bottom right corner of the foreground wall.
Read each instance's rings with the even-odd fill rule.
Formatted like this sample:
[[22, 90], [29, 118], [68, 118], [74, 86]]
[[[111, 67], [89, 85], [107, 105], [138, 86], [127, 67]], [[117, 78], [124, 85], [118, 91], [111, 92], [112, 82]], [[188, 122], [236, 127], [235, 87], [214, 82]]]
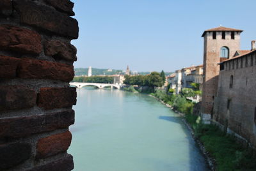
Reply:
[[67, 156], [59, 160], [32, 168], [31, 170], [28, 170], [28, 171], [49, 171], [49, 170], [70, 171], [70, 170], [73, 170], [73, 168], [74, 168], [73, 157], [70, 154], [67, 154]]

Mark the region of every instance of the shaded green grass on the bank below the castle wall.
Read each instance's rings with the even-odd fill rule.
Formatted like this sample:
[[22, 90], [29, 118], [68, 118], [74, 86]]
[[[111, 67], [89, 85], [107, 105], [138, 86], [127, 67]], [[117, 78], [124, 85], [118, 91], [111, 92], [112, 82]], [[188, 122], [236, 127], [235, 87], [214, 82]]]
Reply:
[[185, 118], [195, 131], [196, 138], [216, 160], [218, 171], [256, 170], [256, 157], [252, 149], [238, 144], [234, 137], [226, 135], [218, 126], [202, 124], [196, 115], [186, 114]]

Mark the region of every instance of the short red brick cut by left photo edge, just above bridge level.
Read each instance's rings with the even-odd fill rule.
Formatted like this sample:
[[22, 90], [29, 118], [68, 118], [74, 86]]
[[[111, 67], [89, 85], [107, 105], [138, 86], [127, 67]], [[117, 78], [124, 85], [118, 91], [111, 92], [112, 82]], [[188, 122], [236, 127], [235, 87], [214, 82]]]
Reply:
[[0, 56], [0, 78], [15, 78], [19, 62], [16, 57]]

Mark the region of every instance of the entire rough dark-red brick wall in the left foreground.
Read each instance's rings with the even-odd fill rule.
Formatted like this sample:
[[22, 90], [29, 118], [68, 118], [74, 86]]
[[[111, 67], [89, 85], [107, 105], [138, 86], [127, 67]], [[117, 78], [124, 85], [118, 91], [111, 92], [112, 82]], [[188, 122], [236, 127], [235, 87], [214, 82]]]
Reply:
[[72, 170], [74, 3], [0, 2], [0, 170]]

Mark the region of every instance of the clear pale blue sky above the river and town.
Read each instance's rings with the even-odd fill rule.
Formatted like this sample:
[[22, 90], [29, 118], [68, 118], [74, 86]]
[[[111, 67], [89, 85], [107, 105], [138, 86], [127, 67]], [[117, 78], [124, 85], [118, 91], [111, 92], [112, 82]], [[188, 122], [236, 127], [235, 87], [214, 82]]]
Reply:
[[243, 29], [256, 39], [255, 0], [72, 0], [79, 22], [76, 68], [175, 71], [203, 63], [205, 29]]

